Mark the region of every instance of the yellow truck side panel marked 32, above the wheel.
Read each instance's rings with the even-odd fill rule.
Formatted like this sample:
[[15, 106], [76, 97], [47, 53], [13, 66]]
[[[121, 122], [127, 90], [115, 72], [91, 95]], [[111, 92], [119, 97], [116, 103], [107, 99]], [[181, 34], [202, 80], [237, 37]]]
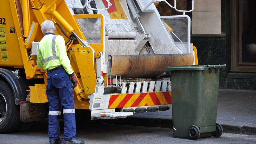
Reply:
[[[0, 12], [0, 66], [23, 67], [18, 41], [18, 36], [21, 36], [18, 16], [13, 17], [10, 12], [9, 0], [3, 0], [1, 4], [4, 6]], [[18, 25], [15, 25], [17, 22]]]

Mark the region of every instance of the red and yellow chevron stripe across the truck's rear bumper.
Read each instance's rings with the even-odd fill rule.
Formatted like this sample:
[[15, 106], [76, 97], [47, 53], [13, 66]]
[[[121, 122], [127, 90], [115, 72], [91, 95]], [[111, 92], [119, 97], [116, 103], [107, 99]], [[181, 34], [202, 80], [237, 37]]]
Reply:
[[130, 108], [167, 105], [172, 103], [172, 92], [125, 93], [110, 95], [108, 108]]

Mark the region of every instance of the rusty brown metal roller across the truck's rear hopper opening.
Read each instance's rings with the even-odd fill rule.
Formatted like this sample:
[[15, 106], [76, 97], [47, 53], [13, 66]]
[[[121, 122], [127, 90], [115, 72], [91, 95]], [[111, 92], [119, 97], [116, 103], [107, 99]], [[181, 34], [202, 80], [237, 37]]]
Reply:
[[164, 73], [164, 67], [193, 65], [193, 54], [111, 55], [108, 76], [148, 78]]

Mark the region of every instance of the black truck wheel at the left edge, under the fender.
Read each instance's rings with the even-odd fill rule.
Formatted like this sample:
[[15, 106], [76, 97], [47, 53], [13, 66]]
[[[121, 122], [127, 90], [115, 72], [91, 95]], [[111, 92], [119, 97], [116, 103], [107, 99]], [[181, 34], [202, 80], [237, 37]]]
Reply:
[[20, 123], [20, 108], [15, 105], [12, 90], [0, 81], [0, 133], [16, 131]]

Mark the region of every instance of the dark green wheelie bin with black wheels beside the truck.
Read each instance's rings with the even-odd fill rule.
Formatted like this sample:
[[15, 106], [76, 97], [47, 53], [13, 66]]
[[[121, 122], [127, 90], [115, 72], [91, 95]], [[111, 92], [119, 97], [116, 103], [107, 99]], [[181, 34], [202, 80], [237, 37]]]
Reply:
[[216, 124], [220, 72], [226, 65], [164, 67], [171, 73], [173, 136], [220, 137]]

